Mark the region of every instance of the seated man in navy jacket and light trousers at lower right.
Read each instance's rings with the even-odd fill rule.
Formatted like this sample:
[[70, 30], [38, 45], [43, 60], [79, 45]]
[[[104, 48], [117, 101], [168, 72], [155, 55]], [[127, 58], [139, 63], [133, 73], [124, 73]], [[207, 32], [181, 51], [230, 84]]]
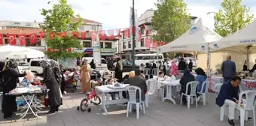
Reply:
[[230, 125], [235, 125], [233, 119], [235, 118], [235, 108], [238, 103], [238, 93], [239, 93], [239, 84], [241, 83], [240, 77], [233, 77], [231, 80], [227, 80], [222, 86], [221, 91], [216, 98], [216, 104], [219, 107], [224, 105], [229, 107], [229, 119], [228, 122]]

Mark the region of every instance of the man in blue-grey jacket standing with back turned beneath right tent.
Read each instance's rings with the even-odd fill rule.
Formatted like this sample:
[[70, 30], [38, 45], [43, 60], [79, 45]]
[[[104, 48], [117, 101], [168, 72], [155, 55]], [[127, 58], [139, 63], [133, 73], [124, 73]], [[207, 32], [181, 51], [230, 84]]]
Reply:
[[230, 80], [233, 76], [236, 75], [236, 64], [231, 61], [231, 56], [227, 56], [227, 60], [222, 62], [221, 71], [224, 82]]

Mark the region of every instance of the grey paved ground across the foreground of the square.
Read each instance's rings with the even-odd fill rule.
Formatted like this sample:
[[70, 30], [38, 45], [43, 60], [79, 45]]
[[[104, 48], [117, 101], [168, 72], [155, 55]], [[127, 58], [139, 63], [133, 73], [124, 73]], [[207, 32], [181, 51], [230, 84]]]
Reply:
[[[141, 114], [136, 119], [136, 113], [130, 113], [126, 117], [126, 107], [113, 105], [108, 108], [108, 115], [100, 109], [100, 106], [91, 106], [92, 112], [81, 112], [77, 110], [84, 95], [70, 93], [63, 96], [63, 105], [60, 112], [54, 115], [47, 115], [47, 110], [42, 113], [43, 119], [28, 115], [26, 118], [17, 121], [19, 116], [13, 120], [0, 119], [0, 126], [229, 126], [227, 116], [224, 121], [219, 120], [219, 107], [215, 106], [215, 95], [209, 93], [209, 100], [206, 106], [203, 103], [195, 104], [187, 109], [187, 106], [179, 105], [179, 97], [175, 99], [177, 104], [170, 101], [160, 101], [160, 98], [150, 98], [149, 108], [146, 115]], [[252, 113], [249, 113], [251, 116]], [[235, 121], [240, 125], [239, 121]], [[245, 126], [252, 126], [253, 121], [245, 121]]]

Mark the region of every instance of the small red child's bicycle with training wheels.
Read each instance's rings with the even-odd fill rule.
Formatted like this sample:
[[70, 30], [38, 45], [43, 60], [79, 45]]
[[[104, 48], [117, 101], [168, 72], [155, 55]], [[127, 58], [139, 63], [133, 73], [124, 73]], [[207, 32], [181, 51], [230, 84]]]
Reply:
[[91, 89], [91, 92], [86, 93], [87, 98], [84, 98], [81, 101], [80, 107], [77, 108], [77, 110], [81, 110], [82, 112], [88, 111], [90, 113], [91, 109], [88, 107], [89, 104], [95, 104], [99, 105], [102, 101], [100, 100], [99, 96], [96, 95], [96, 91], [94, 88]]

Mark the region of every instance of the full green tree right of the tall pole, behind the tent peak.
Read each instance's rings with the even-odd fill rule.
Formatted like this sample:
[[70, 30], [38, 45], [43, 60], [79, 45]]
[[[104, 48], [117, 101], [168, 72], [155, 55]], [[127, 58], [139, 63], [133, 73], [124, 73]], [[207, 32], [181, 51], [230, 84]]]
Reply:
[[184, 0], [157, 0], [157, 10], [152, 17], [152, 28], [159, 34], [153, 39], [171, 42], [190, 28], [190, 16]]

